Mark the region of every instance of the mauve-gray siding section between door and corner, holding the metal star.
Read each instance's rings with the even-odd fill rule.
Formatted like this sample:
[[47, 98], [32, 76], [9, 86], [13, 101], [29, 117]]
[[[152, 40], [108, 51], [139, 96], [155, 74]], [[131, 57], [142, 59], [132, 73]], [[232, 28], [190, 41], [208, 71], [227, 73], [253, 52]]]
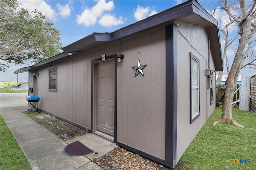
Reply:
[[[121, 42], [118, 63], [117, 141], [164, 159], [165, 155], [165, 28]], [[147, 64], [144, 77], [132, 66]]]

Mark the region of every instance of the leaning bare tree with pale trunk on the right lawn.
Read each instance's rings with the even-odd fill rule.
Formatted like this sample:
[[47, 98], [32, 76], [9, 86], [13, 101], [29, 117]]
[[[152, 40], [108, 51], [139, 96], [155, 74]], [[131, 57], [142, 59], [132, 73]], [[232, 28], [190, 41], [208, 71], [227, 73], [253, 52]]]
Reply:
[[[236, 51], [234, 61], [232, 63], [228, 78], [226, 80], [226, 91], [222, 108], [223, 114], [219, 120], [213, 123], [213, 125], [215, 126], [216, 123], [223, 122], [244, 128], [242, 125], [236, 123], [236, 121], [234, 121], [234, 119], [232, 118], [232, 102], [236, 82], [238, 80], [242, 65], [245, 61], [244, 49], [246, 45], [248, 45], [248, 43], [251, 41], [251, 38], [255, 33], [255, 23], [253, 23], [253, 21], [256, 17], [256, 10], [254, 8], [256, 5], [256, 1], [253, 1], [249, 9], [246, 8], [245, 1], [240, 0], [239, 5], [241, 15], [239, 17], [237, 17], [236, 14], [232, 14], [232, 12], [230, 11], [230, 6], [228, 6], [228, 2], [228, 0], [225, 0], [225, 6], [223, 9], [226, 10], [227, 14], [237, 23], [239, 27], [238, 33], [241, 37], [239, 39], [238, 49]], [[254, 29], [252, 29], [252, 27], [254, 27]]]

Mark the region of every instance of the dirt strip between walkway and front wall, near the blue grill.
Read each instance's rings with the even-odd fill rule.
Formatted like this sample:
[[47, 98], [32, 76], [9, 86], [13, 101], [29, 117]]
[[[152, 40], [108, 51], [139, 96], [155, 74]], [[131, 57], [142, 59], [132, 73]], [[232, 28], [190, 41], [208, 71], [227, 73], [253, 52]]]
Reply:
[[48, 129], [50, 132], [58, 136], [62, 141], [73, 139], [87, 134], [87, 132], [79, 127], [76, 127], [66, 121], [62, 121], [57, 117], [54, 117], [45, 112], [29, 113], [28, 116], [34, 121]]

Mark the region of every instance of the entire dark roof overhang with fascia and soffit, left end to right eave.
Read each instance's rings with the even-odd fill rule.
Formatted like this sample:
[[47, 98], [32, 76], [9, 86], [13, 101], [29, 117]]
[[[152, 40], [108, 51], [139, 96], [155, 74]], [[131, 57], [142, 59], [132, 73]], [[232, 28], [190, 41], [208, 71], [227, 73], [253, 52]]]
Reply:
[[82, 51], [91, 50], [142, 31], [159, 27], [161, 25], [168, 25], [176, 21], [206, 28], [208, 36], [210, 37], [212, 49], [211, 52], [215, 69], [216, 71], [222, 71], [223, 64], [218, 23], [208, 12], [206, 12], [206, 10], [204, 10], [204, 8], [202, 8], [202, 6], [200, 6], [200, 4], [198, 4], [197, 1], [188, 0], [180, 5], [169, 8], [168, 10], [118, 29], [112, 33], [92, 33], [91, 35], [63, 47], [62, 50], [64, 53], [60, 53], [33, 66], [20, 68], [19, 70], [16, 70], [14, 74], [30, 71], [44, 64], [63, 59], [69, 56], [68, 53], [79, 53]]

